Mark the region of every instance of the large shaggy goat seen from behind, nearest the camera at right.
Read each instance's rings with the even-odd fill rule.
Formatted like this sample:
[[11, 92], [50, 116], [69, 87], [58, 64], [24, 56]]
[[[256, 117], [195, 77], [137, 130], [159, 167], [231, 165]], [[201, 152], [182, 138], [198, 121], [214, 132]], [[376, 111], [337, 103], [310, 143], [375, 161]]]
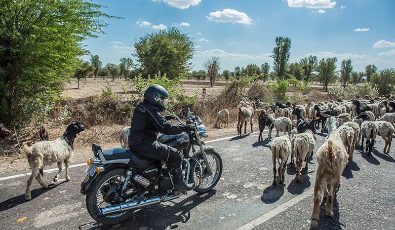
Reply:
[[[328, 137], [316, 152], [317, 170], [314, 185], [314, 205], [311, 229], [316, 229], [322, 195], [326, 195], [326, 215], [333, 217], [333, 198], [340, 183], [340, 176], [347, 165], [348, 154], [337, 131], [335, 117], [327, 118]], [[329, 190], [328, 190], [329, 189]]]

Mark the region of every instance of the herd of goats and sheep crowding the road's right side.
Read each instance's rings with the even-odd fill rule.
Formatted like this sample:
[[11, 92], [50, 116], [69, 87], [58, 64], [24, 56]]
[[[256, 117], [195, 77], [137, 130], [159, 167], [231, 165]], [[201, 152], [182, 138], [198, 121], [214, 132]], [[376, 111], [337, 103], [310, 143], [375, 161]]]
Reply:
[[[261, 109], [257, 109], [261, 108]], [[385, 141], [384, 153], [389, 154], [394, 134], [395, 102], [393, 99], [369, 99], [351, 101], [330, 101], [315, 104], [295, 105], [288, 102], [277, 102], [271, 105], [259, 100], [250, 102], [248, 99], [240, 101], [238, 106], [237, 135], [241, 135], [244, 124], [246, 133], [247, 122], [250, 122], [251, 132], [254, 116], [258, 117], [259, 137], [267, 126], [268, 138], [272, 137], [272, 129], [276, 128], [276, 137], [272, 141], [273, 185], [276, 186], [276, 162], [278, 162], [279, 184], [284, 182], [284, 173], [289, 154], [291, 165], [296, 158], [296, 181], [300, 181], [300, 171], [303, 161], [308, 169], [310, 155], [316, 143], [316, 128], [321, 133], [327, 130], [325, 142], [316, 151], [317, 171], [314, 186], [314, 206], [311, 217], [311, 228], [317, 227], [320, 203], [326, 196], [326, 215], [333, 216], [333, 198], [340, 183], [344, 168], [353, 160], [353, 153], [366, 138], [365, 153], [371, 154], [376, 136]], [[224, 112], [226, 111], [226, 112]], [[227, 120], [229, 112], [220, 111], [215, 125], [221, 127], [222, 120]], [[376, 117], [379, 117], [376, 119]], [[279, 136], [283, 132], [283, 136]], [[286, 134], [287, 133], [287, 134]]]

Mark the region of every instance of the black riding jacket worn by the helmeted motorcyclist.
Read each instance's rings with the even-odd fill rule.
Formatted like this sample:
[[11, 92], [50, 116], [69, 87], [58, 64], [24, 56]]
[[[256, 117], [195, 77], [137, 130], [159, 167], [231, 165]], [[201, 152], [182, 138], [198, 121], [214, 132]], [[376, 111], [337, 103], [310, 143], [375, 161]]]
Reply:
[[172, 135], [185, 131], [181, 124], [167, 121], [159, 112], [159, 108], [146, 100], [140, 102], [133, 112], [130, 124], [129, 145], [138, 145], [146, 141], [155, 141], [158, 132]]

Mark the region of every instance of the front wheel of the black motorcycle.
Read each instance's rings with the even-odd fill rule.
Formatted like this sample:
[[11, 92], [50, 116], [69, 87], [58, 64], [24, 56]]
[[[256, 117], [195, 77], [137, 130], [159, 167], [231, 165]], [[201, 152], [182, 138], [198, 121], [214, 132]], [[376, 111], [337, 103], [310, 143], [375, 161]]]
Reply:
[[[214, 150], [207, 150], [205, 151], [207, 155], [207, 160], [211, 166], [213, 171], [213, 175], [207, 174], [206, 164], [204, 162], [203, 157], [201, 154], [197, 155], [197, 160], [199, 161], [203, 175], [201, 184], [196, 186], [194, 191], [199, 193], [206, 193], [212, 190], [218, 183], [219, 179], [221, 178], [222, 174], [222, 157], [219, 153], [215, 152]], [[200, 177], [200, 170], [199, 165], [196, 161], [192, 161], [191, 163], [191, 174], [190, 174], [190, 182], [195, 182], [197, 184], [199, 182]]]

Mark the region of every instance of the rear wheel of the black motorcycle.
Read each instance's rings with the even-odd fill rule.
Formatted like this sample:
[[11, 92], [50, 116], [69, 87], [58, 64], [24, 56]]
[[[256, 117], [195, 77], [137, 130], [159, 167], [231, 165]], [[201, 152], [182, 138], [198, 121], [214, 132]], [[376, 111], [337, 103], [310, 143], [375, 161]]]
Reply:
[[[101, 178], [99, 178], [96, 184], [92, 188], [92, 192], [86, 195], [86, 209], [89, 215], [97, 222], [104, 225], [114, 225], [120, 223], [133, 213], [133, 211], [125, 211], [118, 214], [113, 214], [105, 217], [96, 217], [96, 208], [104, 208], [111, 206], [112, 197], [107, 197], [105, 192], [108, 192], [110, 188], [113, 188], [118, 182], [123, 182], [126, 175], [125, 168], [116, 168], [105, 173]], [[117, 195], [118, 192], [111, 193], [112, 195]], [[98, 205], [98, 203], [100, 203]]]

